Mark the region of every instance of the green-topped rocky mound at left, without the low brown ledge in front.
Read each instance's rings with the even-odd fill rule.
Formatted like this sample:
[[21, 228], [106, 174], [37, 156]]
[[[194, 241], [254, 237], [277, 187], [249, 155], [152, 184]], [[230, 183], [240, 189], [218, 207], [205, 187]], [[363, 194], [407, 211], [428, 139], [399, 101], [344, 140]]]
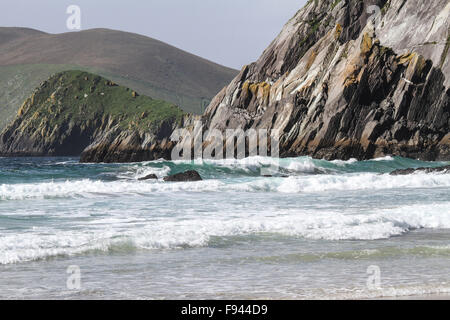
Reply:
[[105, 132], [157, 136], [183, 117], [177, 106], [82, 71], [52, 76], [28, 98], [0, 136], [5, 155], [79, 155]]

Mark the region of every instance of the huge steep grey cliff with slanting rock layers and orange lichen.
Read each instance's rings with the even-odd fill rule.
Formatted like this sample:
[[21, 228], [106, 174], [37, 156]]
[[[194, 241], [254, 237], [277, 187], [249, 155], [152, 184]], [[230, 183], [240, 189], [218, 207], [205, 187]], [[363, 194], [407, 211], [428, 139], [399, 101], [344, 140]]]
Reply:
[[447, 0], [309, 1], [203, 122], [278, 129], [282, 156], [449, 160], [449, 46]]

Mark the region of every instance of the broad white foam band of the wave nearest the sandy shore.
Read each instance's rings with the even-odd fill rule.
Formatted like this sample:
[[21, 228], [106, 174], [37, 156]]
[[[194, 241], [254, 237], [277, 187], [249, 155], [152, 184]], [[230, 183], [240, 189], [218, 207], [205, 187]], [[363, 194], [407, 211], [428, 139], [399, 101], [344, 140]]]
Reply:
[[[78, 222], [71, 229], [36, 228], [0, 235], [0, 264], [74, 255], [93, 250], [180, 249], [209, 245], [213, 237], [261, 233], [314, 240], [376, 240], [418, 228], [450, 228], [450, 202], [360, 214], [309, 209], [184, 214], [139, 219], [110, 209], [107, 217]], [[54, 227], [56, 228], [56, 227]]]

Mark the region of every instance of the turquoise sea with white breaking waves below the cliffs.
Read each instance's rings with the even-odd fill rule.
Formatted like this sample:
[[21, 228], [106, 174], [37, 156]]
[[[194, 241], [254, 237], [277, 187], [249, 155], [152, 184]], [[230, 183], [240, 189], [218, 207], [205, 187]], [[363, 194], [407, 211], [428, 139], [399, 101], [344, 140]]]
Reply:
[[[302, 157], [262, 177], [274, 164], [0, 159], [0, 298], [450, 293], [450, 174], [389, 175], [448, 163]], [[190, 169], [204, 181], [161, 179]], [[160, 180], [139, 181], [151, 173]]]

